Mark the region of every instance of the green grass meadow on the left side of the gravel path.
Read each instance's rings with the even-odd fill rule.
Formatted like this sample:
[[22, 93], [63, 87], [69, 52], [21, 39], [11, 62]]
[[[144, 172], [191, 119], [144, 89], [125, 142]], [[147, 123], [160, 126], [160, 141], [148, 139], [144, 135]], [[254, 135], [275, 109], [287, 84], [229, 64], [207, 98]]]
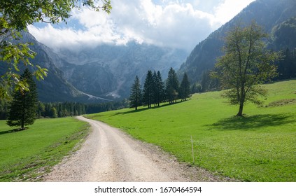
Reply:
[[75, 151], [88, 133], [87, 123], [75, 118], [36, 120], [15, 132], [0, 121], [0, 181], [39, 181], [53, 165]]

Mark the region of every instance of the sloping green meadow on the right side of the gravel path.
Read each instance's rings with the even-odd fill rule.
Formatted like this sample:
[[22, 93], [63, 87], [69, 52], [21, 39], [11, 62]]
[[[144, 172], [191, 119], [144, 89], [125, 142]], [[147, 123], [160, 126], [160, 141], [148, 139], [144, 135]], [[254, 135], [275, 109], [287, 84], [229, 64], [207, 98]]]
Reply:
[[[187, 102], [155, 109], [122, 109], [87, 116], [161, 146], [182, 162], [241, 181], [296, 181], [296, 80], [265, 85], [263, 106], [247, 104], [244, 117], [220, 92], [194, 94]], [[285, 101], [283, 101], [285, 102]]]

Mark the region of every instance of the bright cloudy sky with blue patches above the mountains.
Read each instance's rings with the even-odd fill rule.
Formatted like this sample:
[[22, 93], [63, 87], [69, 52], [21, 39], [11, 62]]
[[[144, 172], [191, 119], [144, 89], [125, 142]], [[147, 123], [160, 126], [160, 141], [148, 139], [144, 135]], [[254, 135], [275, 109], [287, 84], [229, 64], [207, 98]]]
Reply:
[[136, 41], [190, 52], [253, 1], [111, 0], [110, 15], [74, 9], [67, 24], [35, 24], [28, 29], [55, 51]]

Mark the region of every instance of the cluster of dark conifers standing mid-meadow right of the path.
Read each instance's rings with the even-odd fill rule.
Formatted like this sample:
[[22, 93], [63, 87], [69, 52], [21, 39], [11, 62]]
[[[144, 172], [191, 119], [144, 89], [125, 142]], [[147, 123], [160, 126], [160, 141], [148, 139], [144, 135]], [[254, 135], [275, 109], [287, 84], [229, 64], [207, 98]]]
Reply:
[[181, 85], [176, 71], [169, 69], [167, 80], [162, 80], [160, 71], [149, 70], [141, 89], [141, 82], [136, 76], [129, 96], [130, 107], [138, 109], [139, 106], [160, 106], [162, 102], [173, 104], [177, 99], [186, 100], [190, 97], [190, 82], [186, 73], [183, 75]]

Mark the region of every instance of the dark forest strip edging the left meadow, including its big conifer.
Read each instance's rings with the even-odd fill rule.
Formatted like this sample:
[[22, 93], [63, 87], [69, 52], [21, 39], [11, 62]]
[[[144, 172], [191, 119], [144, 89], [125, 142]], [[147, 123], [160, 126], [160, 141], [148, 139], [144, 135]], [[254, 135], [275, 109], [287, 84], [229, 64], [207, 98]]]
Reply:
[[7, 120], [11, 127], [24, 127], [34, 123], [36, 118], [61, 118], [66, 116], [80, 116], [86, 113], [99, 113], [122, 109], [128, 106], [127, 100], [97, 104], [83, 104], [76, 102], [42, 103], [38, 102], [38, 92], [33, 73], [25, 69], [20, 80], [27, 83], [26, 90], [14, 89], [11, 99], [0, 99], [0, 120]]

